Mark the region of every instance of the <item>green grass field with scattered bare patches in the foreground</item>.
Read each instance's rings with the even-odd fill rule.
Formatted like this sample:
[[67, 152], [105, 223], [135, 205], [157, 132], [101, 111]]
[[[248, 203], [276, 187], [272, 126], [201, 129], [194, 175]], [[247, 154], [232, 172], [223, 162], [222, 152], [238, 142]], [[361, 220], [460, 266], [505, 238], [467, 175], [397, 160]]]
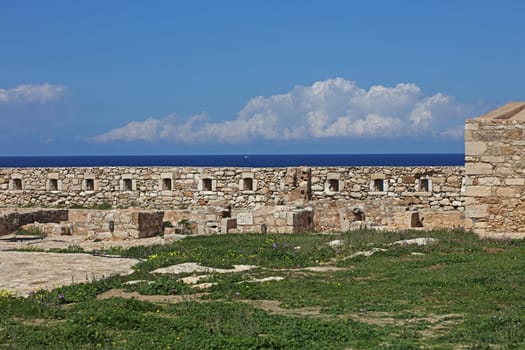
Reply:
[[[392, 244], [415, 237], [436, 241]], [[28, 298], [0, 291], [0, 348], [525, 348], [524, 240], [459, 230], [244, 234], [105, 253], [143, 262], [128, 276]], [[183, 262], [255, 267], [202, 272], [198, 283], [212, 284], [204, 290], [180, 280], [188, 273], [152, 273]], [[254, 282], [269, 277], [280, 280]]]

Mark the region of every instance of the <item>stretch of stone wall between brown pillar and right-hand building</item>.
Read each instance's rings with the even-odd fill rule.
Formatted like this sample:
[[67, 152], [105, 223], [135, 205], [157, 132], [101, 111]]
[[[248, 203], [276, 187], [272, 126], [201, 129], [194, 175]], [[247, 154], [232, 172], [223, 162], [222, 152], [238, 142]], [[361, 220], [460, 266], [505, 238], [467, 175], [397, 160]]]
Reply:
[[[315, 228], [346, 231], [362, 220], [387, 228], [463, 226], [463, 172], [462, 167], [313, 168]], [[414, 212], [420, 217], [415, 222]]]

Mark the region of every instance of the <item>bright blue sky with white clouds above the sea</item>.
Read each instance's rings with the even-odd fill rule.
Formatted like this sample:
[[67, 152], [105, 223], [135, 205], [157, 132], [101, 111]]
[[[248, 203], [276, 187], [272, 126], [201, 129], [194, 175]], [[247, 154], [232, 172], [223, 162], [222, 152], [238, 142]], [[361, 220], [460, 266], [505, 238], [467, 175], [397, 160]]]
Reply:
[[463, 152], [525, 2], [3, 1], [0, 155]]

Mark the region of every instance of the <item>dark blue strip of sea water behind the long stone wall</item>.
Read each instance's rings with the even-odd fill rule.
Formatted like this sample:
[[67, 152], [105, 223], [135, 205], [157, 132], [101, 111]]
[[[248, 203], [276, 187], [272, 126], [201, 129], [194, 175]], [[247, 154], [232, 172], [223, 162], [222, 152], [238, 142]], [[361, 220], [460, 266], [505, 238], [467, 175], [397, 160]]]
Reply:
[[95, 166], [463, 166], [463, 153], [0, 157], [0, 167]]

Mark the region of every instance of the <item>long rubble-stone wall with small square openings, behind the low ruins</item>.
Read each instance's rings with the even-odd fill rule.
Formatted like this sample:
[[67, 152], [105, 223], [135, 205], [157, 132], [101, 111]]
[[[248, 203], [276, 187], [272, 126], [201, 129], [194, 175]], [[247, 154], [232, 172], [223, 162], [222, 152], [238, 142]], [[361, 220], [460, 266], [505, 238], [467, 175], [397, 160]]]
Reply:
[[1, 168], [0, 205], [253, 209], [391, 199], [412, 209], [463, 210], [462, 177], [462, 167]]

